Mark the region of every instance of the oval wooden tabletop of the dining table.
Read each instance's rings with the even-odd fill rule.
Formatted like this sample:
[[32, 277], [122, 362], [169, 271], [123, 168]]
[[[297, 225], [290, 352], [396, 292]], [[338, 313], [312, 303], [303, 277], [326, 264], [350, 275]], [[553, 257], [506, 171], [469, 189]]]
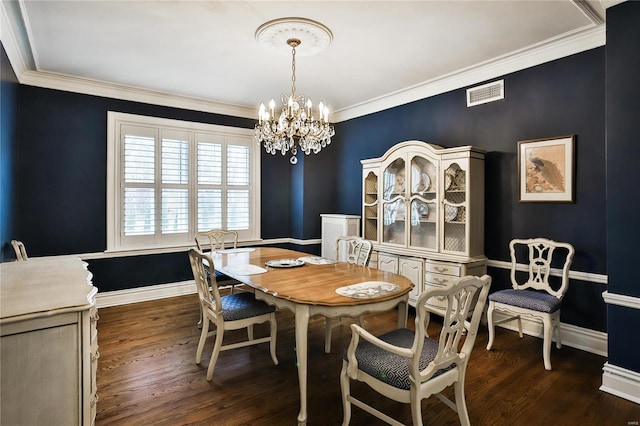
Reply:
[[[250, 251], [249, 251], [250, 250]], [[311, 256], [309, 253], [275, 247], [256, 247], [229, 252], [214, 252], [212, 259], [217, 270], [237, 279], [256, 290], [261, 290], [281, 299], [309, 305], [359, 305], [380, 302], [402, 296], [413, 288], [413, 283], [402, 275], [366, 266], [345, 262], [316, 265], [305, 263], [291, 268], [266, 266], [270, 260], [298, 259]], [[255, 265], [267, 270], [265, 273], [239, 275], [229, 269], [232, 265]], [[233, 269], [233, 267], [231, 268]], [[373, 298], [341, 296], [336, 289], [364, 282], [384, 282], [399, 286], [399, 290]]]

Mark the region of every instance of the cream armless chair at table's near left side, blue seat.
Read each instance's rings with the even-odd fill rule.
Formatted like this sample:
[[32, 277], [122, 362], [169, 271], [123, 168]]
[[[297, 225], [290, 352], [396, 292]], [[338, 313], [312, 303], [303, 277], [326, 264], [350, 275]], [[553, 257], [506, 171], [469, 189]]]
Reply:
[[[211, 256], [196, 249], [189, 250], [191, 270], [198, 289], [200, 306], [204, 313], [200, 341], [196, 351], [196, 364], [200, 364], [202, 350], [208, 337], [216, 336], [207, 369], [207, 380], [211, 381], [218, 356], [221, 351], [241, 348], [249, 345], [257, 345], [269, 342], [271, 359], [278, 365], [276, 357], [277, 323], [275, 307], [258, 300], [254, 293], [239, 292], [220, 296], [220, 291], [215, 282], [215, 275], [208, 273], [208, 268], [213, 269]], [[254, 339], [253, 326], [269, 322], [270, 332], [268, 337]], [[209, 324], [215, 326], [215, 330], [209, 332]], [[247, 340], [223, 345], [224, 332], [227, 330], [247, 329]]]

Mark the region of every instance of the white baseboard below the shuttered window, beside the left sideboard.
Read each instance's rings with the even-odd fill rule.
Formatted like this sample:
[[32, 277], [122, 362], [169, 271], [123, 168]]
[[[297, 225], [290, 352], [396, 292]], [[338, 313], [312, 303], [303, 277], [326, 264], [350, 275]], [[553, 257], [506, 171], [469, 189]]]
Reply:
[[190, 280], [177, 283], [138, 287], [128, 290], [117, 290], [98, 293], [98, 295], [96, 296], [96, 305], [99, 309], [109, 306], [128, 305], [130, 303], [146, 302], [149, 300], [184, 296], [185, 294], [195, 293], [196, 283], [195, 281]]

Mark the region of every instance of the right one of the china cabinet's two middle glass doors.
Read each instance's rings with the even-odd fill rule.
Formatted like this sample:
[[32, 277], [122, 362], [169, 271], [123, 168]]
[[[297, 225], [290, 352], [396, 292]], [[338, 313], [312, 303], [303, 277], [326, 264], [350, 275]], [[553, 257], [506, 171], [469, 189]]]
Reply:
[[410, 166], [409, 245], [438, 249], [438, 168], [436, 160], [416, 155]]

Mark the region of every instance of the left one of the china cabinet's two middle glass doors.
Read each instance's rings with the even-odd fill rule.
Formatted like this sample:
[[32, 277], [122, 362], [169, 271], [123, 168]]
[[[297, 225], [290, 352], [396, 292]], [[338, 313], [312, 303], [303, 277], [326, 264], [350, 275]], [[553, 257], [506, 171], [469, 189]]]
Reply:
[[383, 171], [382, 179], [382, 242], [405, 245], [407, 202], [404, 159], [398, 158], [389, 164]]

